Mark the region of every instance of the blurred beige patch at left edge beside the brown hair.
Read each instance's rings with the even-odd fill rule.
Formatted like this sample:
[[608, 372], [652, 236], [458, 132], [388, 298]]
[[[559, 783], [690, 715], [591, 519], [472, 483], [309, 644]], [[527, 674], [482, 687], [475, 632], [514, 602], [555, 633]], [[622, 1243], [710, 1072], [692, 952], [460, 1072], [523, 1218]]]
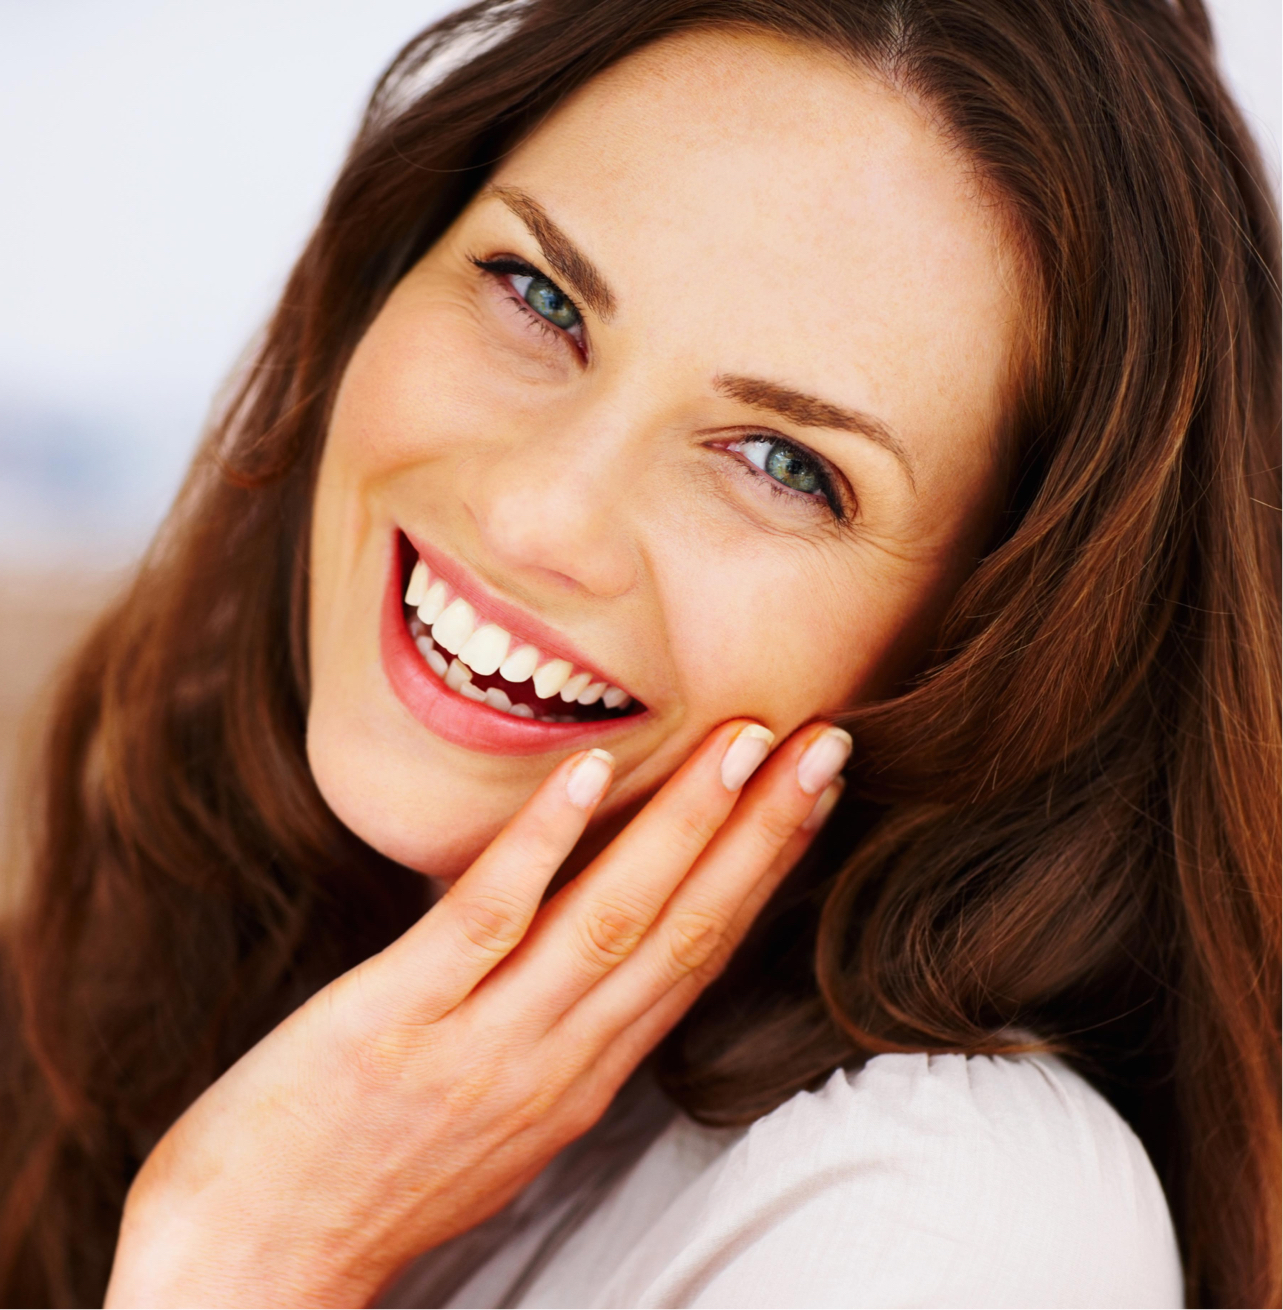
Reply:
[[20, 748], [29, 756], [48, 707], [51, 677], [119, 582], [119, 574], [0, 570], [0, 912], [17, 892]]

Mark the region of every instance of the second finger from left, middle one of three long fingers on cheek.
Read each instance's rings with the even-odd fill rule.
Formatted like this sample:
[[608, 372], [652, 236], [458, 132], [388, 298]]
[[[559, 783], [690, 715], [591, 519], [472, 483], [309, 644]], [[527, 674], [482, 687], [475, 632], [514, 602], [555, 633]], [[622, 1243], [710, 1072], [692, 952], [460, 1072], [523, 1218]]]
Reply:
[[[743, 719], [714, 730], [641, 814], [540, 916], [507, 988], [550, 1027], [637, 946], [775, 740]], [[520, 975], [519, 979], [515, 975]]]

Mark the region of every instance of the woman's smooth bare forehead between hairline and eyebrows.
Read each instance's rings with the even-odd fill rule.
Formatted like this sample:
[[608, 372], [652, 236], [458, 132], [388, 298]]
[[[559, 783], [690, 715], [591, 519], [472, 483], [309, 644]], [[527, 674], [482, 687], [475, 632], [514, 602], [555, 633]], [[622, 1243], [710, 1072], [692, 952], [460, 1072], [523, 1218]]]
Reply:
[[765, 35], [670, 38], [579, 90], [499, 179], [675, 355], [912, 428], [910, 384], [992, 427], [1018, 308], [1001, 207], [871, 71]]

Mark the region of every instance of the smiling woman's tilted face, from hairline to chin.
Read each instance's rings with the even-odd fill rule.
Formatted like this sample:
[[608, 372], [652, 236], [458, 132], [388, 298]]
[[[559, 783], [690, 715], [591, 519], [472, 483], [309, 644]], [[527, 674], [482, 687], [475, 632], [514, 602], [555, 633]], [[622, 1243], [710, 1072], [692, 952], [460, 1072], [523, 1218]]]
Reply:
[[685, 35], [560, 107], [342, 381], [308, 718], [335, 814], [451, 878], [571, 749], [617, 758], [608, 824], [727, 718], [892, 686], [992, 521], [1009, 250], [925, 111], [823, 52]]

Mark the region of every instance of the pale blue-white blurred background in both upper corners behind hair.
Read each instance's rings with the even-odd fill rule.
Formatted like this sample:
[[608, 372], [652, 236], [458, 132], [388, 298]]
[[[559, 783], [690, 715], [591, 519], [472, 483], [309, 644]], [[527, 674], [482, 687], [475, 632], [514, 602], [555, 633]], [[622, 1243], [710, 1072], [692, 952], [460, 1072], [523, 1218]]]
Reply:
[[[145, 542], [375, 77], [450, 8], [0, 0], [0, 567]], [[1278, 177], [1283, 5], [1214, 12]]]

